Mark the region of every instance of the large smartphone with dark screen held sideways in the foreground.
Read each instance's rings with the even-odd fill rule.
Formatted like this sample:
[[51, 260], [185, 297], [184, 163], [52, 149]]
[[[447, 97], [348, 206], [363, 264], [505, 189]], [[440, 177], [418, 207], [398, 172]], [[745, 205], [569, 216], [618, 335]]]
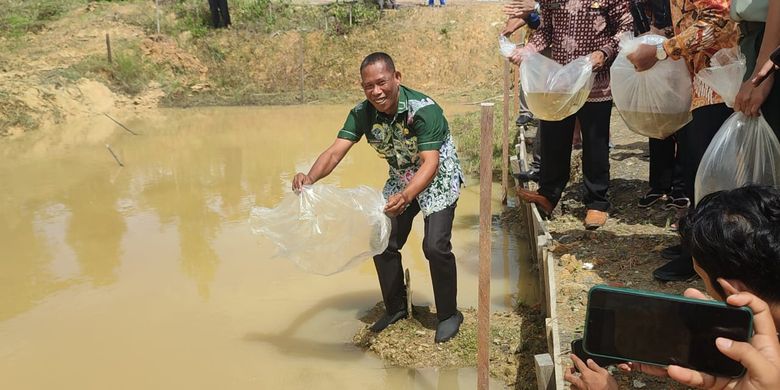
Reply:
[[594, 356], [738, 377], [745, 368], [718, 351], [715, 338], [748, 341], [752, 333], [747, 307], [595, 286], [588, 292], [583, 347]]

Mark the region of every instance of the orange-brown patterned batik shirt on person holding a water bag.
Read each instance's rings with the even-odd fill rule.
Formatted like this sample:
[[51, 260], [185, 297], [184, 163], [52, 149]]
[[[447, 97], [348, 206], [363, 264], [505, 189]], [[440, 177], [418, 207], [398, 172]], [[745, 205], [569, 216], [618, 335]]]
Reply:
[[[675, 36], [664, 42], [664, 50], [672, 59], [684, 58], [691, 74], [710, 66], [718, 50], [737, 45], [739, 28], [729, 20], [729, 0], [671, 0], [671, 8]], [[693, 78], [691, 110], [722, 102], [715, 91]]]

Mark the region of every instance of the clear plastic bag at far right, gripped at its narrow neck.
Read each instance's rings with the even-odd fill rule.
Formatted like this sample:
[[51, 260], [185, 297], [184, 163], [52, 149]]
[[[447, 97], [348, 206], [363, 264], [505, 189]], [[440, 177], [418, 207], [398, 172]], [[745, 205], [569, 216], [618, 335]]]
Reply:
[[[745, 74], [745, 58], [722, 49], [698, 76], [733, 104]], [[748, 184], [780, 186], [780, 142], [763, 115], [735, 112], [720, 127], [696, 171], [696, 202], [707, 194]]]

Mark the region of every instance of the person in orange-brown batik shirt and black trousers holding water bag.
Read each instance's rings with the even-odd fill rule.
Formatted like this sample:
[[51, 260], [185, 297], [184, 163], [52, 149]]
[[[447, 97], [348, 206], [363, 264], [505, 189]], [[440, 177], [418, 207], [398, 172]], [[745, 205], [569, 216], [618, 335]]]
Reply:
[[[693, 200], [699, 162], [712, 137], [732, 113], [723, 98], [695, 75], [709, 66], [710, 58], [718, 50], [735, 47], [739, 31], [729, 20], [729, 0], [671, 0], [670, 5], [674, 37], [658, 45], [639, 45], [628, 55], [628, 60], [640, 72], [667, 58], [683, 59], [688, 65], [693, 77], [692, 119], [675, 135], [677, 152], [682, 159], [685, 196]], [[681, 246], [669, 247], [663, 253], [672, 260], [654, 270], [653, 277], [661, 281], [681, 281], [696, 276], [691, 255]]]

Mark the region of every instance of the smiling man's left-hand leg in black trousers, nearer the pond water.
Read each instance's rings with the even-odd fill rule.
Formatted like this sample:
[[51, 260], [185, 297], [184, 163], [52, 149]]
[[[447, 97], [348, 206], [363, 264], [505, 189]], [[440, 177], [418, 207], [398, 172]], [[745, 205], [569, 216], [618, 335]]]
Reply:
[[374, 256], [374, 266], [379, 277], [379, 287], [382, 290], [382, 300], [385, 302], [387, 314], [406, 310], [406, 285], [401, 267], [401, 248], [409, 238], [412, 222], [420, 212], [420, 204], [412, 201], [401, 215], [391, 218], [392, 228], [387, 249]]

